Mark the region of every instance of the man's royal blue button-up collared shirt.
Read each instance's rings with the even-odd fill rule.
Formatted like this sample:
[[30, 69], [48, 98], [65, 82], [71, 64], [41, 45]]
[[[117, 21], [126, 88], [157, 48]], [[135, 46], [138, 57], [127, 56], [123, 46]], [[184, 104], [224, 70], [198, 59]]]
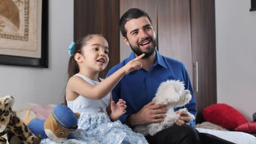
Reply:
[[[108, 71], [107, 77], [116, 70], [126, 65], [127, 62], [135, 58], [134, 52], [131, 53], [130, 57], [123, 60], [118, 65], [114, 66]], [[189, 75], [185, 65], [178, 60], [164, 57], [156, 51], [156, 60], [149, 69], [135, 70], [125, 75], [121, 81], [115, 86], [112, 91], [112, 97], [115, 102], [118, 99], [126, 101], [126, 113], [119, 119], [123, 124], [126, 123], [127, 116], [137, 113], [143, 106], [147, 105], [155, 97], [158, 86], [167, 81], [167, 79], [180, 80], [185, 83], [185, 89], [191, 92], [191, 100], [185, 106], [189, 113], [196, 116], [196, 101], [193, 93], [193, 89], [190, 84]], [[183, 107], [177, 107], [179, 110]], [[191, 121], [190, 125], [194, 126], [195, 121]]]

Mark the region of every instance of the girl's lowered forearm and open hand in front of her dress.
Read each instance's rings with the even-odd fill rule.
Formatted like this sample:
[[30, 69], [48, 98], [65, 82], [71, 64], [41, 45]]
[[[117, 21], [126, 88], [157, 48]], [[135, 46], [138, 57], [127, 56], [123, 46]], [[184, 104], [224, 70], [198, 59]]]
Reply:
[[125, 101], [119, 99], [119, 101], [115, 104], [115, 101], [112, 99], [112, 94], [110, 93], [110, 102], [107, 107], [107, 113], [112, 122], [118, 120], [120, 116], [126, 113], [125, 108]]

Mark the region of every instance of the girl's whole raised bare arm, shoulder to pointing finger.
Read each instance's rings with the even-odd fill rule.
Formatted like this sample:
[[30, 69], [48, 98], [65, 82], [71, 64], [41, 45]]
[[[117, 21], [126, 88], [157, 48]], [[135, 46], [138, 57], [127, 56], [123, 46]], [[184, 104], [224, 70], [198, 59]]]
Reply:
[[102, 99], [111, 92], [112, 89], [116, 86], [116, 84], [120, 81], [120, 79], [129, 74], [133, 70], [138, 70], [142, 68], [141, 62], [139, 60], [144, 57], [144, 53], [139, 57], [134, 58], [129, 61], [125, 66], [118, 69], [115, 73], [104, 79], [97, 85], [91, 85], [84, 81], [83, 78], [78, 76], [73, 76], [69, 78], [68, 81], [68, 92], [73, 92], [71, 95], [83, 95], [83, 97], [90, 99]]

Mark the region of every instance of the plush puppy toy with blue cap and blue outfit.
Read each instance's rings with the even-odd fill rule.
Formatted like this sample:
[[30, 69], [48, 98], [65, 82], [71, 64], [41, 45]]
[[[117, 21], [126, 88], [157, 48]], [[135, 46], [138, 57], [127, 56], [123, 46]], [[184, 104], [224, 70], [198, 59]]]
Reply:
[[39, 118], [29, 118], [27, 111], [25, 124], [40, 140], [50, 138], [51, 140], [62, 143], [67, 140], [71, 131], [77, 130], [79, 113], [74, 113], [65, 105], [57, 105], [52, 113], [44, 121]]

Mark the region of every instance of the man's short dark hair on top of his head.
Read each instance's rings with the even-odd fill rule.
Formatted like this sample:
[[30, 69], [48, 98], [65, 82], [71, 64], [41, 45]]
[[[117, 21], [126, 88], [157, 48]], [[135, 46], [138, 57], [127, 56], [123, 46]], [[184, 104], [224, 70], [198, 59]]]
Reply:
[[147, 17], [148, 20], [150, 21], [150, 24], [152, 25], [151, 19], [149, 18], [148, 14], [145, 11], [142, 11], [140, 9], [129, 9], [128, 11], [126, 11], [120, 21], [119, 21], [119, 28], [121, 30], [122, 35], [127, 38], [127, 31], [124, 27], [124, 25], [126, 24], [127, 21], [131, 20], [131, 19], [138, 19], [140, 17]]

